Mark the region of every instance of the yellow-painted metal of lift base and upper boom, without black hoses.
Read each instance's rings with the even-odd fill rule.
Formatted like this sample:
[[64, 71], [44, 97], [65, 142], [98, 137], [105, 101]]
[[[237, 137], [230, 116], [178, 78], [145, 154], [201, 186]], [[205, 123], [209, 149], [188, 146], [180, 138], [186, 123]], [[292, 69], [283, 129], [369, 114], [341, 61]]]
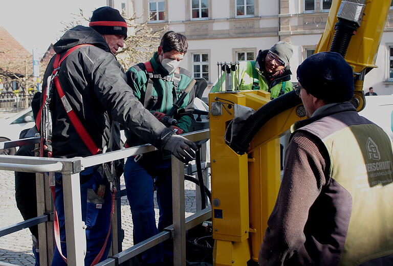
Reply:
[[[376, 68], [377, 51], [391, 0], [366, 0], [361, 27], [352, 37], [345, 60], [355, 73]], [[329, 51], [341, 0], [333, 0], [325, 31], [315, 52]], [[360, 77], [360, 78], [359, 78]], [[363, 80], [355, 80], [358, 110], [363, 108]], [[223, 102], [257, 110], [270, 101], [264, 91], [209, 94], [209, 103]], [[210, 148], [213, 198], [213, 261], [215, 266], [246, 265], [257, 261], [267, 220], [273, 210], [280, 186], [279, 136], [300, 120], [296, 107], [271, 114], [250, 143], [248, 154], [239, 156], [224, 141], [225, 129], [233, 118], [233, 108], [221, 116], [210, 116]], [[219, 205], [214, 206], [214, 199]]]

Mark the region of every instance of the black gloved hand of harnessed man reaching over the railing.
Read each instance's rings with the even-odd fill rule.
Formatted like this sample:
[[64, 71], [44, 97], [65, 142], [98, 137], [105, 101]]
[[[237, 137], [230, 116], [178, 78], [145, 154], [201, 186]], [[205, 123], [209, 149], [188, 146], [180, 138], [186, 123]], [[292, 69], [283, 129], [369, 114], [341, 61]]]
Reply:
[[174, 157], [186, 164], [195, 158], [195, 151], [198, 148], [197, 145], [182, 136], [170, 135], [163, 149], [169, 150]]

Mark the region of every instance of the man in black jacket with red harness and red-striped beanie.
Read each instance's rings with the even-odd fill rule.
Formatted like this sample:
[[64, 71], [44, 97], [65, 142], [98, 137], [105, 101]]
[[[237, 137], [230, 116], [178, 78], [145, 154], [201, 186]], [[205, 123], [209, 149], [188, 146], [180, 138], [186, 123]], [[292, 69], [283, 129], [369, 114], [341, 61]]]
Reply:
[[[56, 55], [48, 64], [42, 84], [46, 90], [47, 80], [52, 80], [48, 77], [52, 75], [51, 85], [56, 88], [52, 90], [49, 106], [52, 143], [44, 152], [50, 156], [52, 151], [55, 158], [74, 158], [119, 149], [120, 123], [158, 149], [170, 151], [183, 162], [190, 161], [195, 156], [195, 144], [174, 135], [151, 115], [124, 80], [124, 71], [115, 57], [127, 37], [127, 24], [120, 12], [111, 7], [98, 8], [89, 26], [68, 30], [54, 45]], [[41, 110], [36, 118], [37, 127], [40, 127], [40, 119]], [[45, 136], [42, 130], [40, 128], [41, 136]], [[117, 167], [117, 170], [120, 171], [117, 175], [121, 175], [122, 168]], [[67, 257], [67, 243], [62, 174], [55, 173], [55, 179], [61, 250], [55, 249], [52, 265], [59, 266], [67, 265], [62, 256]], [[114, 190], [103, 174], [102, 165], [80, 172], [80, 193], [82, 220], [86, 225], [84, 263], [91, 265], [104, 260], [111, 247], [110, 241], [105, 239], [111, 239], [111, 193]]]

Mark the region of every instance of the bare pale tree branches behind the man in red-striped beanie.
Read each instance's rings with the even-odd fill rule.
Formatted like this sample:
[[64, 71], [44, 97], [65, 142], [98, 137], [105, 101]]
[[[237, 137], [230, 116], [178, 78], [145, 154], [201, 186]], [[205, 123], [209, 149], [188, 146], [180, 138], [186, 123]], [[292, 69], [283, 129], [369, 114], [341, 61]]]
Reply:
[[[81, 9], [79, 9], [79, 14], [73, 15], [74, 20], [71, 23], [63, 24], [64, 32], [77, 25], [87, 25], [90, 21], [90, 18], [86, 17]], [[149, 20], [138, 24], [137, 21], [140, 20], [140, 17], [136, 13], [130, 17], [124, 13], [122, 15], [128, 26], [128, 37], [124, 40], [124, 47], [119, 49], [116, 56], [123, 68], [127, 70], [130, 66], [138, 62], [145, 62], [152, 57], [160, 45], [161, 36], [167, 30], [167, 26], [152, 28], [148, 24]]]

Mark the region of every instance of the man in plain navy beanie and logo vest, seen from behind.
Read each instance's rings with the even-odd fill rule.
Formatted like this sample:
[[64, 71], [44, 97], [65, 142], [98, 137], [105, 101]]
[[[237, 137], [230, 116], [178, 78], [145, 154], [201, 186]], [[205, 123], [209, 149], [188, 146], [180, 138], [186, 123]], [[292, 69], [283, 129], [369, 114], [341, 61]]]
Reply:
[[309, 119], [291, 127], [260, 265], [391, 265], [393, 152], [386, 132], [348, 102], [351, 66], [314, 54], [297, 69]]

